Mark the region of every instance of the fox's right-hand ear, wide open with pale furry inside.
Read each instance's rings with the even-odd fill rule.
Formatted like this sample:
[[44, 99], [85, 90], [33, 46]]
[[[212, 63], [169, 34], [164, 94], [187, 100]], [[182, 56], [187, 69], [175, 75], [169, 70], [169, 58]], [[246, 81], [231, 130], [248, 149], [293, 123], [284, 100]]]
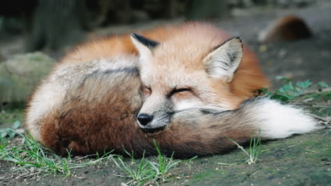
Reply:
[[243, 58], [243, 44], [239, 37], [232, 37], [211, 51], [205, 58], [205, 70], [211, 77], [231, 82]]

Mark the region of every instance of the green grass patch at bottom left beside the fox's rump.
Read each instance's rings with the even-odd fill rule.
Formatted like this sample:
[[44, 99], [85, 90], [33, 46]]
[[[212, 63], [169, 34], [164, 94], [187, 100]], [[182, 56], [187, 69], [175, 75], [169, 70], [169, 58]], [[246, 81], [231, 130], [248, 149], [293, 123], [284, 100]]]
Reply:
[[71, 171], [72, 169], [95, 165], [104, 159], [108, 159], [110, 154], [109, 152], [101, 157], [98, 154], [93, 154], [97, 156], [97, 159], [93, 160], [86, 159], [87, 156], [82, 159], [71, 159], [69, 151], [68, 156], [62, 158], [39, 142], [36, 142], [30, 135], [22, 135], [20, 133], [18, 135], [23, 137], [21, 144], [13, 147], [9, 145], [7, 138], [1, 138], [0, 160], [13, 162], [14, 171], [30, 173], [28, 176], [45, 176], [57, 173], [65, 176], [74, 176], [75, 173]]

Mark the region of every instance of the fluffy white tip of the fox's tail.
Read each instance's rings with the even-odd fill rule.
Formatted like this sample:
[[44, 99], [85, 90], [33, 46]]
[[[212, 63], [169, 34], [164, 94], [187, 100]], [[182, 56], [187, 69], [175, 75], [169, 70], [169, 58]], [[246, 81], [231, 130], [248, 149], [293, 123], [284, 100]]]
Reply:
[[266, 139], [289, 137], [320, 128], [314, 118], [295, 106], [283, 105], [267, 98], [258, 98], [247, 104], [243, 104], [240, 109], [247, 108], [247, 112], [254, 115], [257, 123], [252, 125], [260, 128], [261, 137]]

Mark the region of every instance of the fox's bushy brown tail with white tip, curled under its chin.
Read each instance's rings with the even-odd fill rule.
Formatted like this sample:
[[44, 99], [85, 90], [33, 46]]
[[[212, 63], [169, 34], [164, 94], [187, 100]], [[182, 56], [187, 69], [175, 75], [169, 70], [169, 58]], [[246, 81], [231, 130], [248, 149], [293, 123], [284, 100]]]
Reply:
[[318, 128], [315, 119], [302, 109], [257, 97], [231, 111], [188, 109], [175, 113], [173, 123], [162, 135], [172, 142], [158, 139], [160, 136], [156, 139], [163, 149], [173, 149], [176, 156], [190, 157], [219, 154], [236, 146], [228, 138], [243, 144], [259, 130], [262, 139], [273, 140]]

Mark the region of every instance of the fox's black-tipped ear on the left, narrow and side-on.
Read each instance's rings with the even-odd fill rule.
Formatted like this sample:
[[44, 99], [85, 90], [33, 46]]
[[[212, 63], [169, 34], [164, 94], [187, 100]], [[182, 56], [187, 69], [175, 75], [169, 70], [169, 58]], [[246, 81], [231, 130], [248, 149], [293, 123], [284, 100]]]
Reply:
[[131, 40], [134, 46], [136, 46], [137, 51], [139, 52], [141, 61], [145, 61], [145, 59], [149, 58], [153, 49], [159, 44], [156, 41], [147, 39], [146, 37], [142, 35], [137, 35], [135, 33], [131, 34]]

